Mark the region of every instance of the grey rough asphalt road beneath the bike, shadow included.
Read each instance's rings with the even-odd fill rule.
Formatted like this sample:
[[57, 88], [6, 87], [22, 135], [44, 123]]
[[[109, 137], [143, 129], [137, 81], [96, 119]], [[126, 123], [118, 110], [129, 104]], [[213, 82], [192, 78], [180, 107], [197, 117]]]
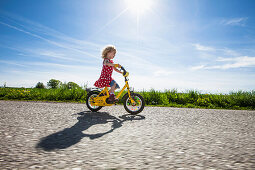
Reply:
[[0, 169], [255, 169], [255, 111], [0, 101]]

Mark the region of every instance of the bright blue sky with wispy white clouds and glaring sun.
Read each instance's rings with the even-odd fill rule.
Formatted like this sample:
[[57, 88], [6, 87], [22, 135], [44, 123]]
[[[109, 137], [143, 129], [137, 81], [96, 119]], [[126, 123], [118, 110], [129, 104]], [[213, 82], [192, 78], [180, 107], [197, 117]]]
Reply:
[[92, 87], [112, 44], [135, 90], [254, 90], [254, 9], [253, 0], [1, 0], [0, 86]]

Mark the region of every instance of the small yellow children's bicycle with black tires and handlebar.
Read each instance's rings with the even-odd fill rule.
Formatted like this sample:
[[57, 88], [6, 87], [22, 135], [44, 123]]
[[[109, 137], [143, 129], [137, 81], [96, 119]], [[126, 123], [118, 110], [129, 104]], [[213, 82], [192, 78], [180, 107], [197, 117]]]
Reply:
[[[124, 67], [121, 67], [121, 70], [123, 71], [122, 74], [125, 78], [125, 86], [121, 89], [119, 94], [116, 96], [116, 99], [119, 99], [123, 91], [127, 88], [127, 93], [122, 97], [124, 108], [128, 113], [131, 113], [133, 115], [138, 114], [144, 109], [144, 105], [145, 105], [144, 99], [140, 94], [130, 91], [130, 88], [128, 85], [129, 73], [124, 69]], [[86, 99], [87, 107], [92, 112], [97, 112], [103, 106], [112, 106], [115, 104], [115, 102], [110, 102], [109, 97], [110, 95], [109, 95], [107, 87], [105, 87], [101, 91], [100, 89], [92, 90], [87, 95], [87, 99]]]

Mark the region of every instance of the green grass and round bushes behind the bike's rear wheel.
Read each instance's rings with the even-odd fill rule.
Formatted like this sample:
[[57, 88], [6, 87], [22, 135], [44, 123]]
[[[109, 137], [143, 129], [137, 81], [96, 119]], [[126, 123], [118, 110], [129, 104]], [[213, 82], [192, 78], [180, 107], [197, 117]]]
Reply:
[[46, 86], [38, 82], [35, 88], [0, 88], [1, 100], [29, 101], [86, 101], [86, 86], [80, 87], [74, 82], [62, 83], [51, 79]]

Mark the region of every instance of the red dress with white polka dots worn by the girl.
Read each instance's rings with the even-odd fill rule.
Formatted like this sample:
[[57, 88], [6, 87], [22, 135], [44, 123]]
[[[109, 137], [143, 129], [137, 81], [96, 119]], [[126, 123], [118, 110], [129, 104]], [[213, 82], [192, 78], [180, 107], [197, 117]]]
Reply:
[[[108, 60], [110, 63], [113, 64], [112, 60], [104, 59], [104, 61], [105, 60]], [[103, 64], [100, 78], [95, 82], [94, 86], [96, 86], [98, 88], [104, 88], [105, 86], [110, 87], [109, 84], [113, 80], [112, 71], [113, 71], [113, 66], [107, 66], [107, 65]]]

